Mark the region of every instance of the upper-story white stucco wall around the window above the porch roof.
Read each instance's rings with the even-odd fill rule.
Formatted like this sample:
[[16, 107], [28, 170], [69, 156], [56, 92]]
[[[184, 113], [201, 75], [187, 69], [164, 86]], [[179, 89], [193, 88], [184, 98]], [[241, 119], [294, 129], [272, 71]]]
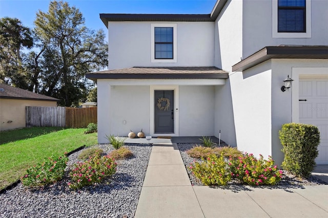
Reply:
[[213, 22], [157, 22], [177, 24], [177, 62], [151, 62], [151, 24], [109, 22], [109, 69], [134, 66], [214, 66]]

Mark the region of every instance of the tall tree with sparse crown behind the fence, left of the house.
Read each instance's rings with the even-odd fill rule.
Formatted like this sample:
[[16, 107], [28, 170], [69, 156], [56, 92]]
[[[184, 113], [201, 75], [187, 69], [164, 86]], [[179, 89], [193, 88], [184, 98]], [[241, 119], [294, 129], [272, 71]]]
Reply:
[[34, 21], [43, 45], [51, 45], [44, 54], [44, 76], [48, 76], [43, 77], [43, 86], [49, 87], [47, 94], [58, 94], [65, 106], [86, 99], [89, 84], [85, 74], [107, 66], [105, 33], [89, 30], [84, 23], [78, 9], [57, 1], [50, 2], [48, 12], [39, 10]]

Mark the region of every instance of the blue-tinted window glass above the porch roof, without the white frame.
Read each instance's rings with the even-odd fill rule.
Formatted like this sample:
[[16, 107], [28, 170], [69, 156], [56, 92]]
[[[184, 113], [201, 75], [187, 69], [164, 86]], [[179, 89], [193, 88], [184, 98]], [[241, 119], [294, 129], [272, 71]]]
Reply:
[[173, 59], [173, 27], [155, 27], [155, 59]]

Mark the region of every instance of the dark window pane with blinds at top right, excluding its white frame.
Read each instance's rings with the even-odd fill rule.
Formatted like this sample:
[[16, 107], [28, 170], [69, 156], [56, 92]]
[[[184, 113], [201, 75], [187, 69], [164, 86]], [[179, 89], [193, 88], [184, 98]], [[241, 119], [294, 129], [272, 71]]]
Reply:
[[305, 0], [278, 0], [278, 32], [305, 33]]

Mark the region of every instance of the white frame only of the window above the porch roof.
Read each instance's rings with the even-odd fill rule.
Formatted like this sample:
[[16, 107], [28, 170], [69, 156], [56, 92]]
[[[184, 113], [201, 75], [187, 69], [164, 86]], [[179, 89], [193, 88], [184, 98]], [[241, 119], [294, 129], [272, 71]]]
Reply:
[[[173, 27], [173, 59], [155, 59], [155, 27]], [[176, 63], [177, 62], [177, 31], [176, 24], [151, 24], [151, 62]]]

